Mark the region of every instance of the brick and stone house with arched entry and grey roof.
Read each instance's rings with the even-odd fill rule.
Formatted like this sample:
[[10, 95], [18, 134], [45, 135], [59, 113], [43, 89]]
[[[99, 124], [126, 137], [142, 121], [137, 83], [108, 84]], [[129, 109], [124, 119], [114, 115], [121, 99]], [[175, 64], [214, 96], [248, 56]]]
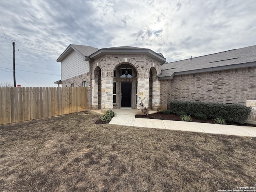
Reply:
[[92, 110], [137, 108], [140, 113], [138, 98], [156, 111], [166, 109], [170, 100], [256, 107], [256, 46], [168, 63], [147, 48], [70, 44], [57, 61], [57, 83], [87, 86]]

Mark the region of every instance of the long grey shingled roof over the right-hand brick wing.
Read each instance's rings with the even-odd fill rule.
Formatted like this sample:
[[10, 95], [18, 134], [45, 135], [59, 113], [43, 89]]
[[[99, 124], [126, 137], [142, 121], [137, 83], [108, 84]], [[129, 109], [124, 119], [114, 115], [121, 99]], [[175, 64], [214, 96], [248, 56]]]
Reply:
[[174, 75], [256, 66], [256, 45], [165, 63], [159, 79]]

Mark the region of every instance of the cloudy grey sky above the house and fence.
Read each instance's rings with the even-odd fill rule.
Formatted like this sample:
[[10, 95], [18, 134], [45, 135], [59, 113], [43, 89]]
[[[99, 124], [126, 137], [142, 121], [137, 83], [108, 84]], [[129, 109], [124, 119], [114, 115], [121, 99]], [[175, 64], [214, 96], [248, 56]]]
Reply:
[[[256, 45], [255, 0], [1, 0], [0, 83], [57, 86], [69, 44], [136, 46], [168, 62]], [[19, 50], [19, 51], [18, 51]]]

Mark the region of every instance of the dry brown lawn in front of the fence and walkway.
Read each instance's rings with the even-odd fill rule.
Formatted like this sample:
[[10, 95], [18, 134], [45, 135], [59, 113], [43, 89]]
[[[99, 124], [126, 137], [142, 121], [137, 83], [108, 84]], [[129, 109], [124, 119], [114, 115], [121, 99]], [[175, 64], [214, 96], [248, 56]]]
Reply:
[[0, 126], [0, 191], [256, 186], [256, 138], [94, 124], [79, 113]]

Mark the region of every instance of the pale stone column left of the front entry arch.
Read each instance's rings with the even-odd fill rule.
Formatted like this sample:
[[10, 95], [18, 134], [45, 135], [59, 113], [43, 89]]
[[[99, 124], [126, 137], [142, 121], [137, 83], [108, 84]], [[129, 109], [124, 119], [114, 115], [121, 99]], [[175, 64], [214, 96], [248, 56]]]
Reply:
[[113, 78], [101, 78], [101, 112], [113, 110]]

